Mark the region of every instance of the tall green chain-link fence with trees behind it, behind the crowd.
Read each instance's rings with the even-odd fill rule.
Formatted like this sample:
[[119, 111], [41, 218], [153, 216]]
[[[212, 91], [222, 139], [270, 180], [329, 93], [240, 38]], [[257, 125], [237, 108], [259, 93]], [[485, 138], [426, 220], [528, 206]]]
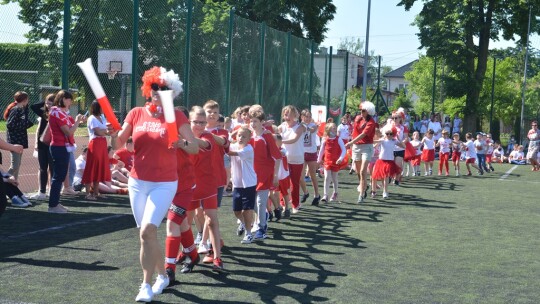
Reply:
[[0, 5], [0, 16], [29, 25], [11, 28], [7, 18], [0, 20], [2, 111], [19, 90], [30, 94], [32, 104], [49, 93], [70, 89], [77, 96], [73, 111], [84, 113], [94, 96], [76, 64], [91, 58], [97, 70], [98, 51], [131, 51], [134, 45], [133, 73], [118, 73], [113, 79], [98, 73], [120, 120], [130, 108], [144, 103], [141, 76], [156, 65], [173, 69], [184, 82], [177, 105], [191, 107], [214, 99], [225, 115], [241, 105], [261, 104], [270, 117], [279, 120], [284, 105], [303, 109], [339, 100], [321, 87], [332, 77], [343, 76], [315, 68], [316, 60], [330, 58], [316, 43], [239, 17], [224, 4], [195, 0], [34, 2]]

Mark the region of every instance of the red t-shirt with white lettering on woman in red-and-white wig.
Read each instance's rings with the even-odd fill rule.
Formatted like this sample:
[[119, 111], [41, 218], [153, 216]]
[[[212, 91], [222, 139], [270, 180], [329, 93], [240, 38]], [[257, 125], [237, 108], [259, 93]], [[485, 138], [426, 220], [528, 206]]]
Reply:
[[[188, 124], [184, 113], [175, 111], [178, 127]], [[165, 116], [152, 117], [145, 108], [129, 111], [125, 122], [132, 128], [135, 157], [131, 176], [150, 182], [176, 181], [176, 151], [169, 149]]]

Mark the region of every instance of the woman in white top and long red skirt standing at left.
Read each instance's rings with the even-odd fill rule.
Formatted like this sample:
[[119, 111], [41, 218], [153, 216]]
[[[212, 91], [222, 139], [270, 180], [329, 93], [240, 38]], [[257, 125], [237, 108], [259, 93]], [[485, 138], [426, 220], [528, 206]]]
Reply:
[[[107, 121], [97, 100], [90, 105], [90, 117], [87, 128], [90, 142], [86, 153], [86, 166], [82, 176], [82, 184], [86, 187], [86, 199], [96, 200], [101, 197], [99, 183], [111, 181], [109, 152], [107, 150]], [[90, 191], [92, 186], [93, 192]]]

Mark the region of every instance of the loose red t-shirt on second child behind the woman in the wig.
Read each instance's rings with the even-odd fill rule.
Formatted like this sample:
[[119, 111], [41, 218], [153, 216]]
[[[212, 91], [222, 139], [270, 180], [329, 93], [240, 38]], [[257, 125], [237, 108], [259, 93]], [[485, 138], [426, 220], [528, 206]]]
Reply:
[[[199, 153], [189, 155], [195, 173], [195, 183], [197, 184], [193, 191], [193, 200], [202, 200], [217, 195], [217, 176], [212, 151], [217, 144], [209, 132], [204, 132], [199, 138], [210, 143], [210, 146], [206, 149], [199, 148]], [[223, 160], [221, 163], [223, 163]]]

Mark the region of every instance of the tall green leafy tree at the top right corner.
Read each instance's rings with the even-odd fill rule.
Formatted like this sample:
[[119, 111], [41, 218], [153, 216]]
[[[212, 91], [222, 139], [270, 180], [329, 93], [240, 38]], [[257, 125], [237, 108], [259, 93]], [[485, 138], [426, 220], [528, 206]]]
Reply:
[[[409, 10], [416, 0], [401, 0], [398, 5]], [[529, 5], [533, 16], [540, 12], [540, 1], [504, 0], [424, 0], [415, 24], [420, 33], [421, 47], [427, 55], [444, 59], [457, 77], [445, 82], [447, 94], [466, 96], [464, 128], [478, 125], [480, 91], [487, 70], [490, 40], [519, 37], [524, 45], [527, 34]], [[540, 27], [535, 18], [532, 30]]]

